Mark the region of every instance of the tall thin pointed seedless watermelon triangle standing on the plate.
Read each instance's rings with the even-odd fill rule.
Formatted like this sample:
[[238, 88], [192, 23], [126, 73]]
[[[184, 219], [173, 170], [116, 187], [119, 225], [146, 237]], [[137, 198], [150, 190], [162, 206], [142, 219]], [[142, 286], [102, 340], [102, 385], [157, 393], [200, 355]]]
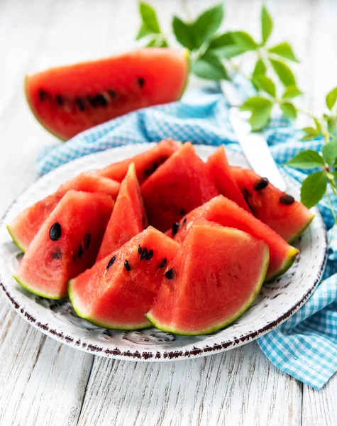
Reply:
[[148, 225], [143, 199], [137, 180], [135, 163], [121, 182], [114, 210], [106, 227], [97, 261], [121, 247], [126, 241], [139, 234]]

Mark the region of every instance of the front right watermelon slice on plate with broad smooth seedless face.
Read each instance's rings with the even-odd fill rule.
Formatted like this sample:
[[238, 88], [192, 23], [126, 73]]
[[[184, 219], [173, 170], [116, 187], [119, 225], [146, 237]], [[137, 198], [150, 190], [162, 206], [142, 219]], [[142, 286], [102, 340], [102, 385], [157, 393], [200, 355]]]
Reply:
[[215, 332], [248, 309], [268, 262], [264, 241], [238, 229], [194, 222], [146, 317], [165, 332]]

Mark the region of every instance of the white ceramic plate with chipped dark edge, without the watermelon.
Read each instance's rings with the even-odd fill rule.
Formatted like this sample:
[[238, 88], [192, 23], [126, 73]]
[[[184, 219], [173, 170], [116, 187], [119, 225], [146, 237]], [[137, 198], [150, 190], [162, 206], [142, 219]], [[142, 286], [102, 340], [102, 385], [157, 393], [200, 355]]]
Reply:
[[[57, 302], [28, 293], [12, 278], [22, 254], [11, 241], [6, 224], [25, 207], [54, 192], [84, 170], [96, 170], [153, 144], [123, 146], [87, 155], [43, 176], [13, 202], [0, 222], [0, 285], [13, 308], [27, 322], [59, 342], [91, 354], [135, 361], [170, 361], [206, 356], [250, 342], [277, 327], [301, 307], [316, 288], [326, 263], [326, 229], [317, 209], [309, 229], [295, 242], [300, 255], [292, 268], [275, 282], [263, 285], [253, 305], [236, 322], [206, 336], [182, 337], [155, 328], [135, 332], [106, 330], [80, 319], [69, 301]], [[196, 146], [206, 159], [214, 147]], [[233, 165], [248, 167], [243, 155], [227, 151]], [[285, 177], [289, 193], [299, 197], [299, 185]]]

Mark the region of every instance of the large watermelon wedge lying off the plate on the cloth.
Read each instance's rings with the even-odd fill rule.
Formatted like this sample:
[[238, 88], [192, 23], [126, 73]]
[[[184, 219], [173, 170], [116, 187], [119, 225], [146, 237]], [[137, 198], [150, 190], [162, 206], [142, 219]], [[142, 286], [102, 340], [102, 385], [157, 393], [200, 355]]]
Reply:
[[176, 101], [188, 74], [187, 51], [146, 48], [26, 77], [26, 97], [40, 124], [67, 140], [135, 109]]

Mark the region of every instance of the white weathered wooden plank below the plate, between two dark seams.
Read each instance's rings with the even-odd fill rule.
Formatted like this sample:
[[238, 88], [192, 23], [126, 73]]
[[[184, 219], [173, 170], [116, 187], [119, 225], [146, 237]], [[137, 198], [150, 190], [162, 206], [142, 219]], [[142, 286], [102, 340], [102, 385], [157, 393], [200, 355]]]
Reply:
[[299, 425], [301, 392], [255, 342], [170, 363], [95, 358], [79, 425]]

